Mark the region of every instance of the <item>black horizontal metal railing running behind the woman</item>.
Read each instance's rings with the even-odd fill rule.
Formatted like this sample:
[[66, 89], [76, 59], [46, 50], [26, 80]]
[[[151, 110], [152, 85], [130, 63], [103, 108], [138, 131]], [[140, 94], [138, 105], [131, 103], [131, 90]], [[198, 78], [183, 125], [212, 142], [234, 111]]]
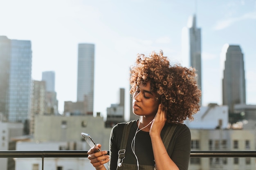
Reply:
[[[109, 151], [108, 151], [109, 155]], [[83, 150], [0, 151], [0, 158], [79, 158], [88, 157]], [[191, 151], [190, 157], [256, 157], [256, 151]]]

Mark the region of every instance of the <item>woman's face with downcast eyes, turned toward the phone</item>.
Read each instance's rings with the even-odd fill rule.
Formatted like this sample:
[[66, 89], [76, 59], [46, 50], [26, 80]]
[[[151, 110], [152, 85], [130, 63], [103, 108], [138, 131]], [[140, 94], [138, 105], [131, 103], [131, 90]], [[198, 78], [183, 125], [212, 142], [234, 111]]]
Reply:
[[156, 93], [150, 91], [150, 81], [139, 84], [132, 97], [133, 113], [139, 116], [155, 117], [159, 105], [156, 97]]

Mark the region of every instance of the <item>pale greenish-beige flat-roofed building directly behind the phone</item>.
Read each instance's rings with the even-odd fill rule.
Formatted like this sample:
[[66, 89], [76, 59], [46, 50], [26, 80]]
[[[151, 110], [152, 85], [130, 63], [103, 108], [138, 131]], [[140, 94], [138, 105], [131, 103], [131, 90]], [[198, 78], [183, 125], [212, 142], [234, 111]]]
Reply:
[[[103, 117], [92, 115], [36, 115], [34, 141], [70, 142], [85, 141], [81, 132], [90, 134], [94, 141], [102, 144], [102, 149], [109, 149], [111, 128], [105, 128]], [[90, 149], [88, 146], [85, 149]]]

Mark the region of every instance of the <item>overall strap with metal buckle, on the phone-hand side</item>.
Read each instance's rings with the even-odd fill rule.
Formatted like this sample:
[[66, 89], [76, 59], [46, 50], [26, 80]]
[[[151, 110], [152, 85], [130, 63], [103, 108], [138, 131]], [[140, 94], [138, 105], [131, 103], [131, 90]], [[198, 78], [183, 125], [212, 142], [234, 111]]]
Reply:
[[119, 167], [122, 166], [123, 159], [125, 158], [126, 144], [127, 144], [130, 128], [131, 128], [133, 122], [134, 121], [129, 121], [124, 125], [121, 146], [120, 146], [120, 150], [118, 151], [118, 164], [117, 165]]

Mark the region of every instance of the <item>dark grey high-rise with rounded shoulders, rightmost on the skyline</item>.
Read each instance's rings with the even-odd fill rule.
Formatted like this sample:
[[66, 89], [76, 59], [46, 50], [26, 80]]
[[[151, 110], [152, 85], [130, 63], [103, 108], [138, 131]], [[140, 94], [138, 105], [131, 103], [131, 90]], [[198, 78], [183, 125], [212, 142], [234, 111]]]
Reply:
[[245, 104], [245, 68], [240, 46], [225, 44], [222, 49], [225, 61], [222, 77], [222, 102], [234, 113], [235, 104]]

